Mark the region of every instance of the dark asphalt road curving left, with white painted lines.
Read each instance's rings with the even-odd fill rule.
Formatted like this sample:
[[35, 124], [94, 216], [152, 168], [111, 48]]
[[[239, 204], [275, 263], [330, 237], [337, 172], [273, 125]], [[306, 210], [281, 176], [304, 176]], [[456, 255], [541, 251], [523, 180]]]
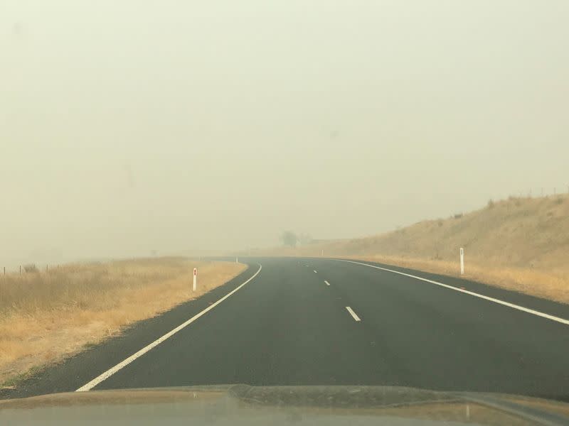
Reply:
[[569, 324], [555, 320], [569, 318], [566, 305], [402, 268], [395, 269], [450, 287], [331, 259], [247, 263], [242, 276], [201, 300], [48, 369], [8, 396], [74, 391], [209, 309], [88, 388], [390, 385], [569, 400]]

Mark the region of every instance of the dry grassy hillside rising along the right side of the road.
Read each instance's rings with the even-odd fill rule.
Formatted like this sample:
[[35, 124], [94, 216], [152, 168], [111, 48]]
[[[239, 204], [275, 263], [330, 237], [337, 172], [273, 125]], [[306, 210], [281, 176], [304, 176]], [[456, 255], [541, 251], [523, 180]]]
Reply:
[[[448, 219], [419, 222], [378, 236], [266, 255], [351, 257], [466, 276], [509, 290], [569, 303], [569, 197], [515, 198]], [[260, 254], [260, 253], [255, 253]]]

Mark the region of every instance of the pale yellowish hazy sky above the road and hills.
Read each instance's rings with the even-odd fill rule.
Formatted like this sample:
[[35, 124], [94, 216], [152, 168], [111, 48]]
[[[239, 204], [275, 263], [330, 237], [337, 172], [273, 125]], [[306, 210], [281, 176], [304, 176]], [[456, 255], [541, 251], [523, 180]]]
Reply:
[[568, 22], [565, 0], [0, 0], [0, 263], [567, 192]]

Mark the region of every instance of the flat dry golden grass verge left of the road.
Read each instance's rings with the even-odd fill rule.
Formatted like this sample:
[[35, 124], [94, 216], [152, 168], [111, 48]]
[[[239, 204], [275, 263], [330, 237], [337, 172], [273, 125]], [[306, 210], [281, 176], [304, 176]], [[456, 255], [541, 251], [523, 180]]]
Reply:
[[[193, 268], [198, 291], [191, 291]], [[119, 334], [246, 268], [184, 258], [62, 266], [0, 279], [0, 383]]]

